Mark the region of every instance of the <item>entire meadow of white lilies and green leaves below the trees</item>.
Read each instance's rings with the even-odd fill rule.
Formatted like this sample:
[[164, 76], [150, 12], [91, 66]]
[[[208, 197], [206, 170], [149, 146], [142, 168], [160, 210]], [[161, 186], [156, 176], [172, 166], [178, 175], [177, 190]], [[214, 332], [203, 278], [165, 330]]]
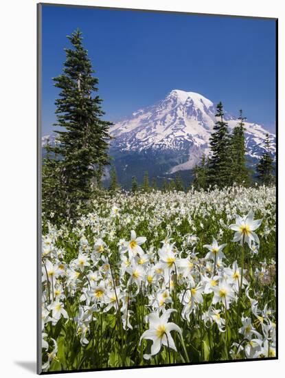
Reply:
[[104, 192], [43, 216], [42, 368], [275, 357], [275, 187]]

